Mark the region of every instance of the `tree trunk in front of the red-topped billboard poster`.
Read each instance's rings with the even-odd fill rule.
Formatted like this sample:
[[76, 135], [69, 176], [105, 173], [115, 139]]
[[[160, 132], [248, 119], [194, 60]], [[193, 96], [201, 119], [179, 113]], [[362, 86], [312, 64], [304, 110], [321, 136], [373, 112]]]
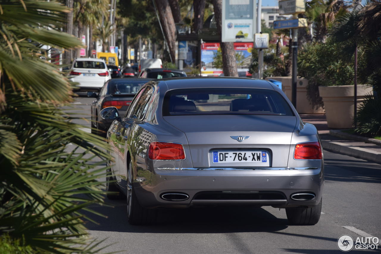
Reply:
[[[221, 34], [222, 31], [222, 0], [213, 0], [213, 8], [215, 11], [215, 18], [217, 30]], [[222, 51], [222, 66], [224, 76], [238, 77], [237, 62], [235, 60], [235, 50], [233, 42], [221, 42]]]

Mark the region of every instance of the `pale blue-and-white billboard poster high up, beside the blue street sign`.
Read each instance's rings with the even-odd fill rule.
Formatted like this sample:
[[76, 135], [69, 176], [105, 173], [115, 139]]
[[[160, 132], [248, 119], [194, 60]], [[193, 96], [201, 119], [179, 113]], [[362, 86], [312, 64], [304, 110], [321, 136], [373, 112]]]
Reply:
[[252, 42], [256, 29], [254, 0], [226, 0], [222, 10], [223, 42]]

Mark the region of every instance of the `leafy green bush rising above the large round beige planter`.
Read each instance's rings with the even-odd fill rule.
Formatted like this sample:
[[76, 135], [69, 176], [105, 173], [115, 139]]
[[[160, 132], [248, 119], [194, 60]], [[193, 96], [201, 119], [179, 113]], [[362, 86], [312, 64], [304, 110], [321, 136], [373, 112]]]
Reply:
[[312, 106], [323, 106], [319, 86], [353, 85], [354, 61], [344, 61], [334, 43], [307, 45], [298, 53], [298, 76], [308, 79], [307, 98]]

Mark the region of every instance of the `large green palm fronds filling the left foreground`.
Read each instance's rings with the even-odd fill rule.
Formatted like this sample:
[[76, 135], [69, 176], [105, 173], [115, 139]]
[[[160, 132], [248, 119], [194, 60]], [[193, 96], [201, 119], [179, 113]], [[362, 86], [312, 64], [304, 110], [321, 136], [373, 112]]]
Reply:
[[[0, 235], [38, 253], [98, 251], [86, 245], [83, 211], [103, 204], [96, 179], [108, 148], [60, 109], [73, 100], [73, 86], [42, 49], [82, 47], [61, 32], [69, 10], [38, 0], [9, 0], [1, 9]], [[100, 162], [89, 164], [96, 156]]]

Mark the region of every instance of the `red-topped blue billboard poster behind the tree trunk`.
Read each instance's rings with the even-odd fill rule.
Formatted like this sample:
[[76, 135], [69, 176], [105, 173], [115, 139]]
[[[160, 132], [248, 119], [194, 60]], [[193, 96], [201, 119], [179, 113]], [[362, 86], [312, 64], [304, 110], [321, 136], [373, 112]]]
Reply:
[[[245, 72], [240, 76], [246, 76], [251, 63], [251, 51], [253, 42], [235, 42], [235, 55], [239, 72]], [[202, 76], [220, 76], [223, 74], [221, 68], [216, 68], [215, 63], [222, 57], [221, 47], [218, 42], [203, 43], [201, 45], [201, 74]]]

